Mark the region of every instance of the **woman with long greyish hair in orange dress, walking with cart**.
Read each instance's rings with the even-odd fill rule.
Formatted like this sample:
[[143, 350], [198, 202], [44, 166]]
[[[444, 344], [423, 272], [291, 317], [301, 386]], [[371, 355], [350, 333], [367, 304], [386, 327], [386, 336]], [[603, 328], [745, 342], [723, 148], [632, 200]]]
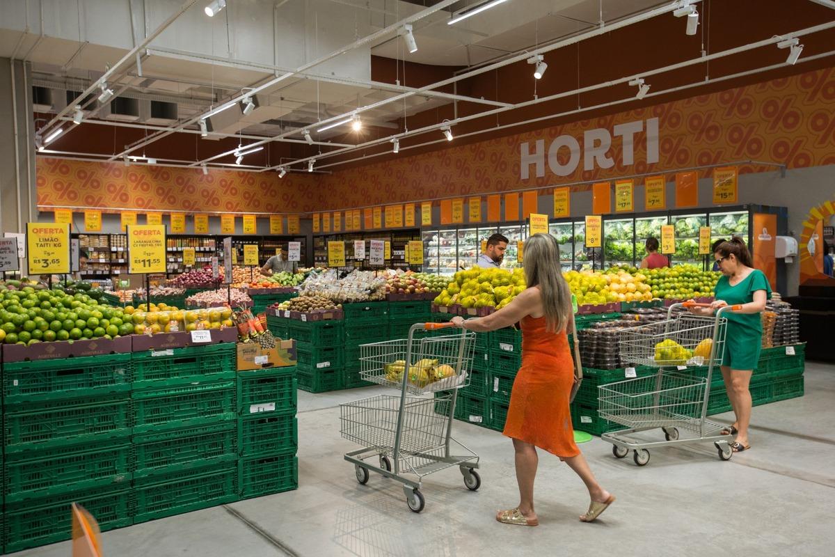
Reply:
[[615, 501], [597, 483], [576, 443], [571, 425], [569, 398], [574, 385], [574, 365], [580, 365], [574, 343], [574, 361], [567, 333], [574, 332], [571, 292], [560, 270], [559, 245], [553, 236], [537, 234], [524, 244], [524, 272], [528, 283], [514, 301], [486, 316], [454, 317], [458, 327], [488, 332], [522, 323], [522, 367], [514, 381], [504, 435], [514, 440], [519, 506], [496, 514], [499, 522], [536, 526], [534, 478], [539, 463], [536, 448], [559, 457], [589, 489], [588, 512], [579, 517], [591, 522]]

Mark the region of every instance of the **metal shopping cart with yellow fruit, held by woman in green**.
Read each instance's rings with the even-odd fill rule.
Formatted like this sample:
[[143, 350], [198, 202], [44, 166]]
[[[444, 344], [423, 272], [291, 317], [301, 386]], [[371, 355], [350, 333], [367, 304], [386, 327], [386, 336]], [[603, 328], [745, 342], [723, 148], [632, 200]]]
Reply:
[[[721, 314], [741, 306], [721, 307], [715, 316], [681, 311], [693, 306], [710, 304], [673, 304], [665, 321], [632, 327], [620, 337], [622, 360], [658, 367], [658, 372], [598, 387], [600, 417], [627, 428], [600, 436], [612, 443], [615, 457], [624, 458], [632, 449], [635, 464], [644, 466], [650, 462], [649, 448], [701, 441], [713, 441], [722, 460], [733, 456], [728, 443], [731, 434], [721, 433], [729, 428], [711, 422], [706, 415], [713, 368], [721, 365], [725, 347], [727, 319]], [[700, 377], [705, 367], [706, 374]], [[655, 428], [661, 428], [665, 441], [646, 441], [633, 435]]]

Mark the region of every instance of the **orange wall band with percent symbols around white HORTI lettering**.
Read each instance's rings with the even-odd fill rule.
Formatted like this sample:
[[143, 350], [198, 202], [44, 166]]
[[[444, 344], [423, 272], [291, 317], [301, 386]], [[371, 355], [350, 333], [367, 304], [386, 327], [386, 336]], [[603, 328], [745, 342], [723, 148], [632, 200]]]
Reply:
[[[79, 162], [38, 157], [38, 205], [125, 207], [137, 210], [305, 212], [385, 205], [438, 197], [615, 180], [645, 172], [676, 170], [741, 160], [785, 162], [789, 169], [835, 164], [835, 68], [823, 68], [761, 84], [727, 89], [597, 119], [488, 139], [433, 153], [387, 156], [386, 160], [332, 175], [293, 173], [283, 180], [274, 172], [249, 173], [180, 170], [157, 166]], [[647, 162], [647, 129], [658, 119], [658, 162]], [[641, 123], [634, 135], [634, 164], [624, 164], [623, 142], [613, 136], [607, 155], [614, 165], [601, 169], [579, 165], [569, 175], [550, 170], [547, 150], [554, 139], [569, 135], [580, 144], [584, 132]], [[521, 177], [521, 149], [546, 152], [544, 175], [529, 165]], [[569, 149], [560, 149], [560, 165]], [[746, 164], [740, 174], [772, 172], [773, 166]], [[711, 176], [704, 170], [700, 178]], [[671, 176], [670, 176], [671, 179]], [[642, 181], [635, 181], [641, 187]], [[589, 190], [580, 186], [574, 190]]]

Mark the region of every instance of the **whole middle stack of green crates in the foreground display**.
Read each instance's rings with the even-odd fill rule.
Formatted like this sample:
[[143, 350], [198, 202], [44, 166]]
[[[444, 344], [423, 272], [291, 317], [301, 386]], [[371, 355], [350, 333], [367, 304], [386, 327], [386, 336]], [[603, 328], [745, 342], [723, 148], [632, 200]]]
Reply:
[[235, 344], [135, 352], [134, 522], [240, 499]]

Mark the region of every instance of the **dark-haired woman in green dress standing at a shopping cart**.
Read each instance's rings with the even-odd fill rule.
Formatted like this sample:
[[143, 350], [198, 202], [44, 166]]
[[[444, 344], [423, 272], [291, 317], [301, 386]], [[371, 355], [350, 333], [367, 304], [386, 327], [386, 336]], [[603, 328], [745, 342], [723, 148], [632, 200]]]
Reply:
[[736, 422], [722, 433], [736, 435], [731, 445], [735, 453], [751, 448], [748, 424], [751, 422], [751, 392], [748, 384], [760, 359], [762, 322], [760, 312], [772, 296], [772, 288], [762, 271], [752, 268], [751, 253], [741, 238], [716, 246], [713, 256], [722, 273], [716, 283], [716, 300], [710, 308], [691, 308], [700, 315], [714, 315], [717, 308], [741, 305], [737, 311], [723, 311], [727, 318], [725, 347], [722, 352], [722, 378]]

